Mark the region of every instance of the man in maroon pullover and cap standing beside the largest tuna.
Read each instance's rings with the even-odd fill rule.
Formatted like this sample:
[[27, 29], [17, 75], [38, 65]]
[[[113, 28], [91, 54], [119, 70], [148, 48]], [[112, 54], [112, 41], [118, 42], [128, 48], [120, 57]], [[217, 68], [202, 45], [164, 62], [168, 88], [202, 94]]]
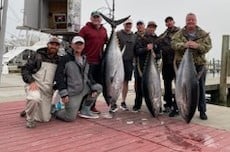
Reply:
[[[83, 54], [87, 56], [89, 70], [92, 73], [94, 81], [101, 84], [101, 59], [105, 43], [108, 40], [106, 28], [101, 24], [102, 18], [100, 13], [94, 11], [91, 13], [90, 22], [87, 22], [79, 32], [79, 35], [85, 40]], [[95, 108], [91, 109], [94, 113], [100, 112]]]

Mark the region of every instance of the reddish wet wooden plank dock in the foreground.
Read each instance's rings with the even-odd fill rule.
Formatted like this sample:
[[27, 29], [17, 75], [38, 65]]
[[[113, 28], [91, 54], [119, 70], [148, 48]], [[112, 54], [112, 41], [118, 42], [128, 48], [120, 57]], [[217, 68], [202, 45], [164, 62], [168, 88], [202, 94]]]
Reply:
[[[0, 103], [2, 152], [229, 152], [230, 132], [179, 117], [148, 112], [118, 111], [113, 119], [80, 119], [71, 123], [52, 119], [25, 127], [19, 117], [24, 101]], [[106, 104], [98, 104], [100, 110]]]

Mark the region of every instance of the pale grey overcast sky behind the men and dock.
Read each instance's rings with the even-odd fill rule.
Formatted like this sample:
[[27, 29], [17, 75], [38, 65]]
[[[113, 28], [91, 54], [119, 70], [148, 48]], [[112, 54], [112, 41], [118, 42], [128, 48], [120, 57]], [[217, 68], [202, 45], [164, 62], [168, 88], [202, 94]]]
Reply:
[[[6, 36], [17, 35], [16, 25], [22, 25], [24, 0], [9, 0]], [[112, 0], [107, 0], [112, 7]], [[197, 15], [198, 25], [210, 32], [213, 49], [207, 54], [209, 59], [221, 57], [222, 35], [230, 34], [230, 0], [115, 0], [115, 18], [131, 15], [134, 23], [154, 20], [159, 35], [165, 30], [164, 19], [173, 16], [176, 26], [185, 25], [185, 16], [189, 12]], [[101, 10], [108, 12], [106, 0], [82, 0], [81, 24], [89, 20], [90, 12]], [[105, 25], [108, 28], [108, 25]], [[119, 26], [118, 29], [122, 28]], [[108, 30], [110, 30], [108, 28]], [[133, 28], [135, 31], [135, 26]], [[110, 32], [110, 31], [109, 31]]]

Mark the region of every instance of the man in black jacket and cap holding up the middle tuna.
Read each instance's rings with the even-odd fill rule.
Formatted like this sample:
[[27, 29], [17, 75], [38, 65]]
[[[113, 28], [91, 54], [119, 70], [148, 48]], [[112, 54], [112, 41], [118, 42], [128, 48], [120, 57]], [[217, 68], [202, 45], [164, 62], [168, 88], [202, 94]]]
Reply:
[[135, 56], [136, 56], [136, 66], [135, 66], [135, 91], [136, 98], [135, 104], [133, 106], [133, 112], [139, 112], [142, 105], [143, 91], [142, 91], [142, 74], [144, 69], [144, 64], [149, 51], [153, 51], [155, 59], [160, 59], [160, 50], [158, 49], [155, 41], [157, 40], [157, 35], [155, 34], [156, 23], [154, 21], [148, 22], [146, 32], [144, 36], [137, 36], [135, 44]]

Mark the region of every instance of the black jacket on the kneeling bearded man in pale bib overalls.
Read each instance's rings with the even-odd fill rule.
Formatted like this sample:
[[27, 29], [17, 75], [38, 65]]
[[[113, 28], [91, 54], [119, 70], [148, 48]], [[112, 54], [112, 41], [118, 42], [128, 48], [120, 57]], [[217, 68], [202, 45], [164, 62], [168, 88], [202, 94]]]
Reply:
[[32, 74], [35, 74], [41, 68], [42, 62], [57, 64], [58, 60], [58, 55], [49, 55], [47, 48], [41, 48], [36, 52], [32, 52], [27, 63], [22, 67], [21, 70], [23, 81], [28, 84], [34, 82], [35, 80], [32, 77]]

